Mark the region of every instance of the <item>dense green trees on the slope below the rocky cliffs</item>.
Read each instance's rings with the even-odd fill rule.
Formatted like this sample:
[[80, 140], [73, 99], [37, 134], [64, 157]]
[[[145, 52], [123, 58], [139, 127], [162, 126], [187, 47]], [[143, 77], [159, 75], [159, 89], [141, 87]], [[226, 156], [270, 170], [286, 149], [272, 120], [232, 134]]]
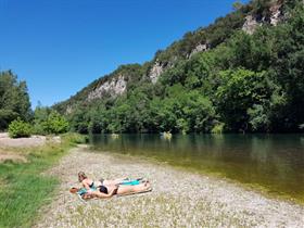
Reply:
[[286, 15], [277, 26], [263, 25], [253, 35], [235, 29], [216, 48], [179, 59], [155, 85], [144, 77], [144, 64], [129, 65], [127, 73], [143, 77], [129, 78], [123, 96], [74, 103], [71, 127], [79, 132], [301, 131], [303, 3]]

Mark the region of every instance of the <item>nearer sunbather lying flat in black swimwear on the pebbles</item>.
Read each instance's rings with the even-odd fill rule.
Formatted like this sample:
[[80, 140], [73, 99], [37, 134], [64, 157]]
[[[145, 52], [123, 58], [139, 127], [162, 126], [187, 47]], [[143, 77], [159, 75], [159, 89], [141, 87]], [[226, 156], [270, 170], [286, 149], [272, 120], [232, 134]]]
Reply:
[[92, 199], [92, 198], [100, 198], [106, 199], [111, 198], [114, 194], [124, 195], [124, 194], [132, 194], [132, 193], [140, 193], [151, 191], [151, 185], [149, 181], [141, 182], [136, 186], [101, 186], [99, 188], [91, 188], [90, 191], [86, 188], [72, 188], [69, 189], [71, 193], [77, 193], [81, 197], [81, 199]]

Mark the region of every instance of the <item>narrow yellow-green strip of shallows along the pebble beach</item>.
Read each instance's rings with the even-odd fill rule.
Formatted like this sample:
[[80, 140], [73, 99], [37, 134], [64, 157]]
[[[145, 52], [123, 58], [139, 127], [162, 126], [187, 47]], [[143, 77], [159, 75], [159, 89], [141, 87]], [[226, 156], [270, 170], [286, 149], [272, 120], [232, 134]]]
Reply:
[[105, 153], [105, 154], [109, 154], [109, 155], [112, 155], [112, 156], [115, 156], [115, 157], [122, 159], [122, 160], [134, 159], [134, 160], [137, 160], [137, 161], [150, 162], [150, 163], [154, 163], [154, 164], [159, 164], [159, 165], [161, 163], [162, 165], [167, 165], [167, 166], [173, 167], [177, 170], [189, 172], [189, 173], [192, 173], [192, 174], [206, 176], [208, 178], [214, 178], [215, 180], [224, 180], [226, 182], [236, 185], [236, 186], [238, 186], [238, 187], [240, 187], [240, 188], [242, 188], [246, 191], [254, 191], [254, 192], [256, 192], [258, 194], [262, 194], [263, 197], [271, 199], [271, 200], [284, 201], [284, 202], [288, 202], [288, 203], [299, 204], [299, 205], [304, 206], [304, 198], [303, 199], [295, 199], [295, 198], [291, 198], [290, 195], [284, 194], [282, 192], [273, 192], [269, 189], [267, 189], [266, 187], [257, 185], [257, 183], [253, 185], [253, 183], [240, 182], [238, 180], [227, 178], [225, 176], [225, 174], [216, 173], [214, 170], [208, 170], [207, 168], [204, 169], [204, 170], [197, 169], [197, 168], [193, 168], [193, 167], [183, 166], [183, 165], [180, 165], [180, 164], [175, 164], [170, 161], [166, 161], [166, 160], [163, 160], [161, 157], [155, 157], [155, 156], [132, 155], [132, 154], [122, 154], [119, 152], [97, 151], [92, 147], [89, 148], [88, 151], [94, 152], [94, 153], [102, 152], [102, 153]]

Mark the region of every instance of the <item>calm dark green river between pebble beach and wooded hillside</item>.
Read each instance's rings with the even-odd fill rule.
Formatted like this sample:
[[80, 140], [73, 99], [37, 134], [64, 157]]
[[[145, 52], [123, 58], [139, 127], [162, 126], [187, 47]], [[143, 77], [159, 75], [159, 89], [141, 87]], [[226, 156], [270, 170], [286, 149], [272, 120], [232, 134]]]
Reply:
[[304, 202], [304, 135], [92, 135], [100, 151], [216, 173]]

